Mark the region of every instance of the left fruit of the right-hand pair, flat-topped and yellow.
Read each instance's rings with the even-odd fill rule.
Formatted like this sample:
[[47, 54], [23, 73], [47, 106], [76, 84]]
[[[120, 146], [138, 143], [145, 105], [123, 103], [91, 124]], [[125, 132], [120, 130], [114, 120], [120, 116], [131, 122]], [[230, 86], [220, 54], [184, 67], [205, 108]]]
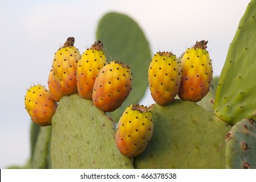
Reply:
[[153, 100], [159, 105], [167, 105], [178, 94], [181, 81], [180, 64], [170, 52], [154, 55], [148, 69], [148, 82]]

